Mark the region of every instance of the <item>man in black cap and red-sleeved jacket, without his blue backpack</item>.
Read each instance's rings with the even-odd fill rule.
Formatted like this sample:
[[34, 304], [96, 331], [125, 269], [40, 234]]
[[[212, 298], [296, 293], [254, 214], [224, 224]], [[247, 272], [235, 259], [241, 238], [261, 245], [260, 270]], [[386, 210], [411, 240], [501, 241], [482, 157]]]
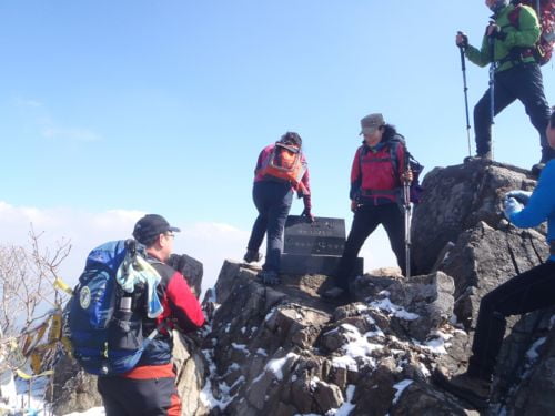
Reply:
[[157, 287], [163, 312], [155, 319], [143, 318], [143, 334], [163, 329], [148, 344], [137, 367], [113, 377], [99, 377], [98, 388], [107, 416], [181, 415], [181, 399], [175, 388], [172, 364], [171, 329], [199, 329], [205, 323], [204, 314], [183, 275], [165, 262], [173, 248], [174, 233], [161, 215], [143, 216], [134, 226], [134, 239], [145, 246], [147, 260], [162, 277]]

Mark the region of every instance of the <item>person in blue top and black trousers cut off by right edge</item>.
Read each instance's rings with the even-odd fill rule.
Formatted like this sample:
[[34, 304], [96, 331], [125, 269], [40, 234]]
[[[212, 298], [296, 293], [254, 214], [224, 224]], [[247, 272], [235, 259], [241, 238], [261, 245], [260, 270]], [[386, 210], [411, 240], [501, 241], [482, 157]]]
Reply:
[[[555, 149], [555, 108], [546, 130]], [[436, 379], [443, 387], [476, 407], [486, 407], [492, 375], [505, 334], [506, 317], [555, 305], [555, 160], [549, 161], [533, 193], [511, 191], [505, 196], [504, 213], [518, 227], [533, 227], [547, 221], [549, 258], [516, 275], [490, 292], [480, 303], [476, 332], [466, 373]]]

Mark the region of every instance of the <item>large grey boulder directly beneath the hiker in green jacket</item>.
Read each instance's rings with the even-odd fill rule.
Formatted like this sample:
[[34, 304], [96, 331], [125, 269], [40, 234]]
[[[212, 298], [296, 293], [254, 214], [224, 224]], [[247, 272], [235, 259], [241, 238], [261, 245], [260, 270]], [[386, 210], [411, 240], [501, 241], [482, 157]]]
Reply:
[[413, 260], [417, 271], [428, 273], [445, 245], [477, 223], [496, 227], [502, 220], [505, 192], [535, 185], [528, 174], [514, 166], [480, 161], [435, 168], [426, 174], [423, 201], [413, 217]]

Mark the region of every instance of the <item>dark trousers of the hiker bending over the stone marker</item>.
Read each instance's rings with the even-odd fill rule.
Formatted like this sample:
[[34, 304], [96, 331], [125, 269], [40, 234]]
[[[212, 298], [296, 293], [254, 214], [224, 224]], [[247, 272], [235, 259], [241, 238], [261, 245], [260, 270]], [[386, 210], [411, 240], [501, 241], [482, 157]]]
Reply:
[[258, 252], [266, 235], [266, 257], [262, 268], [280, 272], [283, 229], [293, 202], [291, 184], [274, 181], [254, 182], [252, 199], [259, 216], [252, 226], [246, 248]]

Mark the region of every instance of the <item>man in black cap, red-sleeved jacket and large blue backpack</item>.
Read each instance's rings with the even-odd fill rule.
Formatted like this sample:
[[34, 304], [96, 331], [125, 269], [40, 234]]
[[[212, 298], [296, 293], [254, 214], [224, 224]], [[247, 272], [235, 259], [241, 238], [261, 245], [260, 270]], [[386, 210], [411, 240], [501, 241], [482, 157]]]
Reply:
[[179, 231], [161, 215], [143, 216], [135, 240], [89, 254], [73, 292], [73, 355], [99, 376], [108, 416], [181, 414], [171, 332], [196, 331], [205, 318], [184, 276], [165, 264]]

